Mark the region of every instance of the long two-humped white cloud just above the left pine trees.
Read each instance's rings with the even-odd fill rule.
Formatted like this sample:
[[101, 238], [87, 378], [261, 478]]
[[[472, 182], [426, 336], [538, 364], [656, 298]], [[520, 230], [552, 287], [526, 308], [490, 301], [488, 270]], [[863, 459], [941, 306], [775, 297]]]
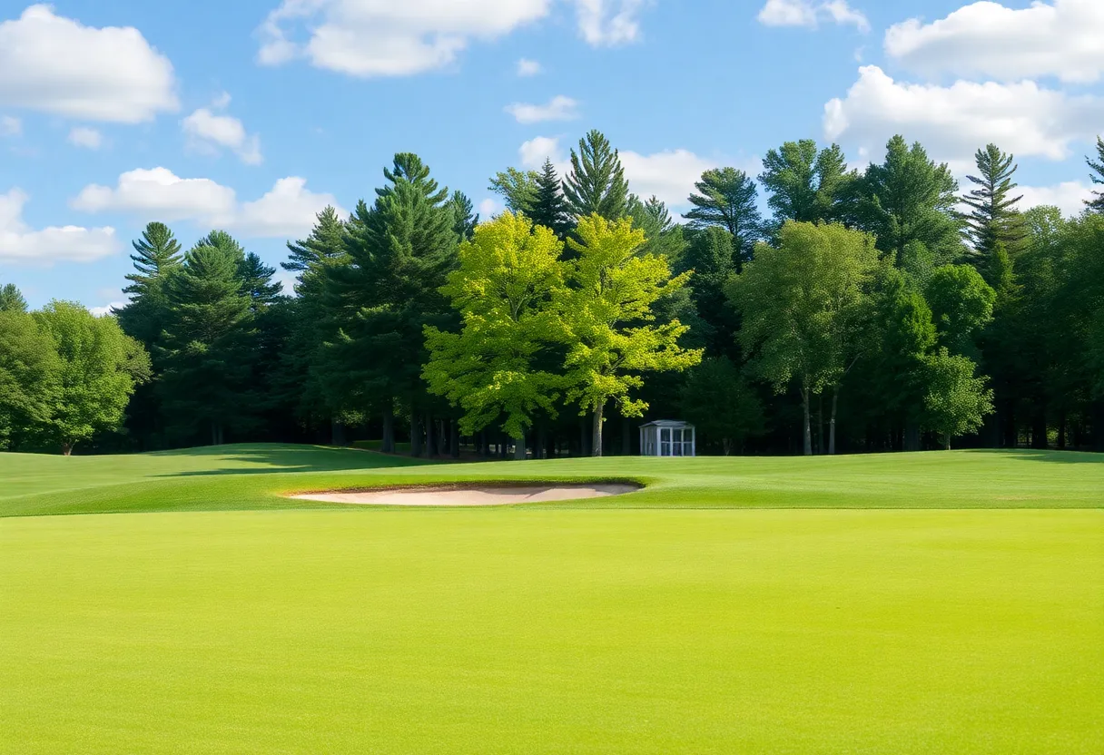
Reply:
[[233, 189], [211, 179], [183, 179], [167, 168], [138, 169], [123, 173], [115, 188], [85, 187], [71, 204], [85, 212], [187, 220], [251, 238], [286, 238], [309, 233], [315, 216], [327, 204], [337, 208], [340, 215], [348, 214], [332, 194], [315, 193], [299, 177], [283, 178], [259, 199], [240, 203]]

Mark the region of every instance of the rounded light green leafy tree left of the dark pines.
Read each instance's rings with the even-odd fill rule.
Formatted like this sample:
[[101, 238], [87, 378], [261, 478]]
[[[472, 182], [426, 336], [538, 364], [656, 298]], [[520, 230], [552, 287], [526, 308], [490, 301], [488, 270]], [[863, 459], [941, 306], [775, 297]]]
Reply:
[[112, 317], [52, 301], [33, 315], [57, 352], [57, 391], [49, 418], [34, 428], [42, 444], [68, 455], [77, 443], [123, 424], [135, 384], [149, 379], [149, 357]]

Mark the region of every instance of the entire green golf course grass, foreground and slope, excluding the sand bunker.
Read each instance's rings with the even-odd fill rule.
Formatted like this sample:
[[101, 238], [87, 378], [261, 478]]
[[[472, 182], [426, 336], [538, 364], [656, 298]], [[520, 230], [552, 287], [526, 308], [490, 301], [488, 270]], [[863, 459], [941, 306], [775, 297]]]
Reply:
[[[488, 480], [647, 487], [287, 498]], [[0, 721], [3, 754], [1101, 755], [1104, 457], [0, 454]]]

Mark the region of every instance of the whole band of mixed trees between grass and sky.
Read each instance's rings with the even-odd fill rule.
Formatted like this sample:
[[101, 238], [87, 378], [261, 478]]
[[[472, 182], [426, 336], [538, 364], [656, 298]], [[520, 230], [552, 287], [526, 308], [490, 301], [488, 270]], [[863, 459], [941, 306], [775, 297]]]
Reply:
[[[1104, 184], [1104, 140], [1086, 162]], [[699, 453], [1104, 450], [1104, 192], [1021, 208], [1016, 170], [987, 145], [960, 187], [901, 136], [862, 170], [789, 141], [705, 171], [679, 223], [592, 130], [566, 176], [491, 177], [481, 222], [399, 153], [288, 243], [295, 296], [230, 234], [184, 251], [159, 222], [113, 316], [0, 288], [0, 448], [545, 458], [682, 418]]]

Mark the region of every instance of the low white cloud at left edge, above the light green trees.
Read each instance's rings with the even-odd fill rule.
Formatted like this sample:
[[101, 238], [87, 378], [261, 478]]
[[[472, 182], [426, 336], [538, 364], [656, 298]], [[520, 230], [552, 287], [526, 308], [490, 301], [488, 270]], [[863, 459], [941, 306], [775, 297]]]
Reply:
[[39, 265], [93, 262], [118, 249], [112, 227], [64, 225], [34, 231], [23, 221], [26, 200], [28, 195], [19, 189], [0, 194], [0, 260]]

